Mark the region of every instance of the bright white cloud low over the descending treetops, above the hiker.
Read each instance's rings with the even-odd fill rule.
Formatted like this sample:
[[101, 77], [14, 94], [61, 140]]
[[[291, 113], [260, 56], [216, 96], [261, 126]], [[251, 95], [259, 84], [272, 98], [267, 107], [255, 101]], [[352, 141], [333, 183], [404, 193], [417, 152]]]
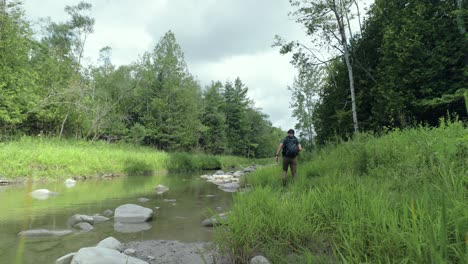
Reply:
[[270, 116], [274, 126], [288, 129], [295, 125], [289, 109], [291, 95], [287, 90], [287, 86], [292, 84], [295, 69], [288, 60], [278, 55], [277, 50], [270, 49], [189, 67], [203, 85], [210, 84], [212, 80], [225, 82], [239, 77], [248, 87], [248, 97], [254, 100], [255, 106]]

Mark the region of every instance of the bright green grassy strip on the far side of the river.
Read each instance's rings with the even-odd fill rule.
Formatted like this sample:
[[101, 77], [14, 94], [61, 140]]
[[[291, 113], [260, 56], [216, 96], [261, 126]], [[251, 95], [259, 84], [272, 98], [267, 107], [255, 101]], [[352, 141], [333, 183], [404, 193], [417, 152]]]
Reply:
[[127, 144], [43, 137], [0, 142], [0, 160], [0, 176], [6, 178], [149, 175], [161, 171], [228, 169], [254, 162], [241, 157], [167, 153]]

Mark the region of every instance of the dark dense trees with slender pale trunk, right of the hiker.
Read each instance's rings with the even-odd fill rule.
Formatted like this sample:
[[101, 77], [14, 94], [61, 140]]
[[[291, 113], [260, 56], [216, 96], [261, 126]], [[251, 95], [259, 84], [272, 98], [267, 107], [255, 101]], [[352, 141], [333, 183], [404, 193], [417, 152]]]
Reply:
[[[318, 143], [348, 138], [357, 131], [353, 102], [360, 131], [437, 125], [447, 115], [466, 120], [466, 1], [375, 0], [364, 23], [356, 0], [290, 2], [296, 8], [293, 16], [312, 39], [322, 33], [318, 38], [322, 42], [315, 44], [339, 51], [325, 60], [302, 43], [277, 43], [282, 53], [294, 53], [299, 70], [298, 81], [290, 88], [295, 92], [297, 128], [307, 132], [312, 120]], [[359, 25], [355, 30], [353, 18]], [[322, 81], [311, 82], [314, 74]], [[304, 112], [307, 96], [316, 98], [309, 103], [311, 118], [310, 111]]]

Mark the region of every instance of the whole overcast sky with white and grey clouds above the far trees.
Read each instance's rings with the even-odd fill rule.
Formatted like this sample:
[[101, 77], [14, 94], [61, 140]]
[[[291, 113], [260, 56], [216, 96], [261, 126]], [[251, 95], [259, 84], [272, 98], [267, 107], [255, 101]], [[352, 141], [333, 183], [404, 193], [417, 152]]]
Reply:
[[[86, 43], [88, 62], [99, 50], [112, 48], [112, 62], [125, 65], [150, 51], [168, 30], [174, 32], [189, 71], [202, 87], [212, 80], [233, 81], [249, 88], [255, 106], [274, 126], [294, 127], [289, 109], [295, 69], [290, 56], [272, 48], [274, 35], [305, 38], [302, 27], [288, 13], [288, 0], [88, 0], [93, 5], [94, 33]], [[24, 0], [31, 21], [50, 17], [64, 22], [66, 5], [79, 0]]]

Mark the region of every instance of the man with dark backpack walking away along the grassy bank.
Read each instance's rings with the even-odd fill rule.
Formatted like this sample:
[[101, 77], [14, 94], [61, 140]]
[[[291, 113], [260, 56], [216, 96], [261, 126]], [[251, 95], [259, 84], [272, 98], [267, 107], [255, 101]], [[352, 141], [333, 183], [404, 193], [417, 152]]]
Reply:
[[283, 186], [286, 185], [286, 178], [288, 174], [288, 167], [291, 168], [292, 178], [296, 176], [297, 170], [297, 155], [302, 150], [302, 146], [299, 140], [294, 136], [294, 130], [289, 129], [288, 135], [281, 141], [276, 149], [276, 162], [278, 162], [278, 155], [280, 150], [283, 154], [283, 174], [281, 175], [281, 181]]

